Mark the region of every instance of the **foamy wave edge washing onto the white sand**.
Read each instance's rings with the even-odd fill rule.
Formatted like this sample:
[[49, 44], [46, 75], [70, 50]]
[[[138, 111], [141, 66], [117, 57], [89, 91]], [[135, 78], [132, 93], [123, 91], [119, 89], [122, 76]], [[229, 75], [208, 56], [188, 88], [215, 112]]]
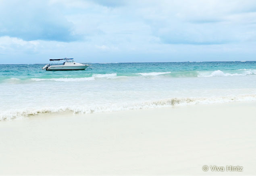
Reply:
[[114, 105], [90, 105], [90, 106], [62, 106], [62, 107], [42, 107], [42, 108], [26, 108], [20, 110], [5, 111], [0, 113], [0, 121], [23, 119], [29, 115], [40, 113], [58, 113], [71, 111], [73, 113], [99, 113], [125, 111], [131, 109], [150, 109], [156, 107], [172, 107], [185, 106], [196, 104], [213, 104], [213, 103], [228, 103], [241, 101], [256, 101], [256, 95], [238, 95], [238, 96], [223, 96], [223, 97], [198, 97], [198, 98], [172, 98], [161, 99], [156, 101], [145, 101], [137, 103], [116, 103]]

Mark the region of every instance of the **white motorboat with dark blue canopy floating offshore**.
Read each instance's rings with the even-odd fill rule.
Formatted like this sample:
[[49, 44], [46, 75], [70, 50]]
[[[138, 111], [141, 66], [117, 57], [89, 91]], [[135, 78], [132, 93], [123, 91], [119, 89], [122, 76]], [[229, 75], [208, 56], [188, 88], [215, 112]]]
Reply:
[[[54, 63], [55, 61], [62, 61], [65, 62], [62, 65], [59, 65], [58, 63]], [[50, 59], [50, 64], [47, 64], [46, 66], [42, 67], [43, 70], [85, 70], [89, 65], [87, 64], [80, 64], [73, 61], [73, 59]]]

